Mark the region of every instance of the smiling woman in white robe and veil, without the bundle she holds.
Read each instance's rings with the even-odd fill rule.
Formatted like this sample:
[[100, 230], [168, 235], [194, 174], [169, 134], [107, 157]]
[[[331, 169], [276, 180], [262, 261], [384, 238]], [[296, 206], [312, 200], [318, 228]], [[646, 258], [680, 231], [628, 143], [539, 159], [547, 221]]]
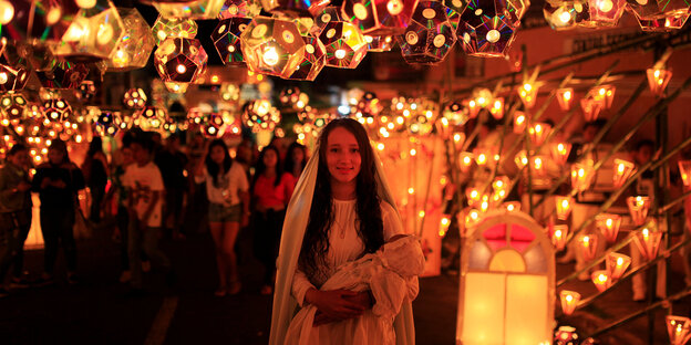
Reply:
[[[381, 163], [358, 122], [331, 122], [322, 129], [317, 151], [288, 206], [269, 344], [283, 344], [297, 310], [306, 304], [318, 311], [312, 332], [318, 344], [355, 344], [355, 334], [360, 334], [357, 344], [381, 344], [378, 330], [352, 333], [341, 327], [372, 313], [377, 301], [369, 290], [318, 288], [339, 265], [375, 252], [386, 239], [402, 233], [400, 216]], [[416, 290], [416, 280], [413, 285]], [[411, 299], [403, 301], [393, 328], [395, 344], [414, 344]]]

